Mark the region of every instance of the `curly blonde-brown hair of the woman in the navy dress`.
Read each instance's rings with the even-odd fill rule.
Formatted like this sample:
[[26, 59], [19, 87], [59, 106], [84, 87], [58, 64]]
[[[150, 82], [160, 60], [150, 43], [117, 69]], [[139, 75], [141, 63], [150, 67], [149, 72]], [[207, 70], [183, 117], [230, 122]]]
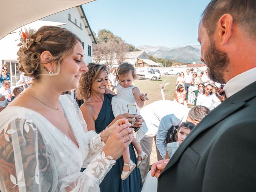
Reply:
[[82, 73], [78, 89], [76, 90], [77, 98], [88, 99], [91, 94], [92, 82], [94, 82], [102, 72], [106, 71], [108, 74], [107, 66], [95, 63], [88, 64], [88, 72]]

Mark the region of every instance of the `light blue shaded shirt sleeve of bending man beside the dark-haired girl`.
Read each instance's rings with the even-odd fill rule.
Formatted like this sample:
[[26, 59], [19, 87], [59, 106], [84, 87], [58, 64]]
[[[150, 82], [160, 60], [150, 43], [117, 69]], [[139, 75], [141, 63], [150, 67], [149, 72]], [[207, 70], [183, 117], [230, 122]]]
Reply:
[[172, 114], [168, 114], [161, 119], [156, 135], [156, 146], [162, 158], [164, 158], [166, 152], [166, 144], [164, 140], [166, 139], [168, 130], [171, 126], [177, 126], [186, 121], [188, 112], [190, 111], [190, 108], [187, 107], [179, 107], [175, 109], [176, 110], [174, 110]]

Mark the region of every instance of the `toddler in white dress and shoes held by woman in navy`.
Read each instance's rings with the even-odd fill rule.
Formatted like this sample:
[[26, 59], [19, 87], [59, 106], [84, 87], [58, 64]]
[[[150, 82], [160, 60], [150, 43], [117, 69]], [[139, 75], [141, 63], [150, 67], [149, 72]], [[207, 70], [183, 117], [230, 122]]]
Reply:
[[[118, 116], [119, 114], [123, 114], [128, 112], [127, 105], [136, 105], [136, 108], [144, 106], [144, 101], [146, 100], [146, 96], [143, 93], [140, 93], [140, 90], [132, 85], [134, 79], [136, 79], [136, 72], [132, 64], [130, 63], [122, 63], [117, 68], [116, 78], [119, 80], [120, 85], [117, 87], [117, 95], [112, 98], [112, 110], [114, 116]], [[137, 110], [139, 115], [139, 110]], [[142, 161], [145, 160], [148, 155], [142, 151], [142, 148], [138, 141], [143, 138], [143, 134], [148, 131], [145, 122], [142, 124], [143, 126], [137, 132], [137, 141], [135, 138], [132, 140], [132, 144], [135, 147], [138, 154], [138, 162], [137, 167], [139, 168]], [[143, 136], [142, 136], [143, 135]], [[132, 170], [135, 168], [134, 162], [130, 160], [129, 148], [127, 148], [123, 153], [124, 158], [124, 167], [121, 174], [122, 180], [125, 180]]]

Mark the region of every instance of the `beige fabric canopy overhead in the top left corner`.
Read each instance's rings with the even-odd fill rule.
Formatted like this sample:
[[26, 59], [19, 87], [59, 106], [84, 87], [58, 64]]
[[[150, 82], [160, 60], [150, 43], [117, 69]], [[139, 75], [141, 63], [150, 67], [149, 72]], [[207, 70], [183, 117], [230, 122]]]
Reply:
[[2, 0], [0, 39], [33, 21], [94, 0]]

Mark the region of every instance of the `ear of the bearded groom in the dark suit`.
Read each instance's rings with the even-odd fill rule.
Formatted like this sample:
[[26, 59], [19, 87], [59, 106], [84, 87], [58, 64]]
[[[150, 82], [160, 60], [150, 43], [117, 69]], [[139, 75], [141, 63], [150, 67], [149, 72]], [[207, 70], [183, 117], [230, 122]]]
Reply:
[[220, 45], [224, 45], [228, 42], [232, 34], [233, 17], [230, 14], [224, 14], [220, 17], [217, 27], [216, 35]]

